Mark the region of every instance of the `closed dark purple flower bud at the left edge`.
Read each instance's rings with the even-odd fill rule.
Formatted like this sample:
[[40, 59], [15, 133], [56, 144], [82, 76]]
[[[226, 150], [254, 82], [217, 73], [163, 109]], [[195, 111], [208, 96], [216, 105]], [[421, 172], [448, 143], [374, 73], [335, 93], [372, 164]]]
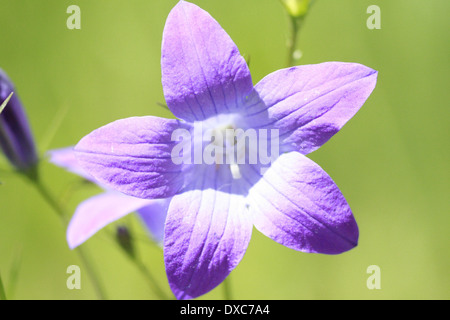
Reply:
[[0, 147], [14, 167], [27, 170], [38, 161], [36, 147], [14, 85], [0, 69], [0, 105], [11, 92], [14, 94], [0, 114]]

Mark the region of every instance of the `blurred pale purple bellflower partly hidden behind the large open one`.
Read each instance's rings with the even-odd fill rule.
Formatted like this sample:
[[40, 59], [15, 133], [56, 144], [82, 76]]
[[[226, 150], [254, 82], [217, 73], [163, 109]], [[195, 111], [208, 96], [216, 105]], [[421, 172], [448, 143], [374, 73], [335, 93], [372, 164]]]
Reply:
[[110, 222], [135, 211], [150, 231], [152, 239], [162, 245], [164, 221], [170, 199], [146, 200], [130, 197], [98, 184], [78, 165], [73, 147], [51, 150], [48, 154], [51, 163], [99, 185], [105, 191], [77, 206], [67, 228], [67, 242], [71, 249], [82, 244]]

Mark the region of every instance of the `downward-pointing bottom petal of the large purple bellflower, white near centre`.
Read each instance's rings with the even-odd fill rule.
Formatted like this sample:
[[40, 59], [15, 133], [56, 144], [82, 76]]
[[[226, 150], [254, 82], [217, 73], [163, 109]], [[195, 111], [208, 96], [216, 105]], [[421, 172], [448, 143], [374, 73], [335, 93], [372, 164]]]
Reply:
[[207, 166], [197, 172], [189, 190], [170, 203], [164, 260], [177, 299], [198, 297], [220, 284], [250, 241], [252, 223], [245, 199], [224, 170], [228, 169]]

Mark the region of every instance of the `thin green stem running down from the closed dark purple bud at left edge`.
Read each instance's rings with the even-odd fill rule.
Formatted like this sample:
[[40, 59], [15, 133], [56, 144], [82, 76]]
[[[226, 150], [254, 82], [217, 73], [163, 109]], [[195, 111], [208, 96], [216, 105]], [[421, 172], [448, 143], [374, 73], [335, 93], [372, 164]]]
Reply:
[[[53, 211], [58, 215], [61, 222], [63, 223], [63, 226], [66, 228], [67, 226], [67, 218], [65, 215], [64, 209], [61, 207], [59, 202], [55, 199], [55, 197], [50, 193], [48, 188], [42, 183], [42, 180], [40, 179], [39, 173], [38, 173], [38, 165], [34, 166], [28, 171], [22, 172], [26, 178], [28, 178], [28, 181], [32, 183], [32, 185], [36, 188], [38, 193], [41, 195], [41, 197], [52, 207]], [[97, 296], [101, 300], [106, 299], [105, 291], [103, 289], [103, 286], [100, 284], [99, 277], [97, 276], [97, 272], [95, 271], [94, 267], [92, 266], [92, 263], [90, 262], [90, 259], [87, 257], [86, 252], [81, 248], [77, 247], [74, 249], [81, 261], [83, 262], [84, 267], [87, 270], [87, 273], [89, 274], [89, 277], [91, 278], [92, 284], [94, 286], [94, 289], [97, 293]]]

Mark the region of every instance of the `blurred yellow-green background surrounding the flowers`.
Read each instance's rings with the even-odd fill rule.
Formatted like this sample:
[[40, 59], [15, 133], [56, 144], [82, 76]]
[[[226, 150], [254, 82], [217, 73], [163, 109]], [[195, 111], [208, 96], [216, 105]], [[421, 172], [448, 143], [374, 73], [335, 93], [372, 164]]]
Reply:
[[[289, 24], [278, 0], [195, 0], [251, 57], [254, 83], [286, 65]], [[76, 144], [111, 121], [172, 117], [158, 103], [160, 47], [176, 0], [1, 0], [0, 67], [15, 82], [41, 154]], [[81, 30], [66, 9], [81, 8]], [[366, 9], [381, 8], [369, 30]], [[230, 278], [236, 299], [449, 299], [449, 74], [447, 0], [316, 0], [300, 34], [300, 64], [359, 62], [379, 71], [361, 111], [309, 155], [338, 184], [360, 228], [355, 249], [337, 256], [287, 249], [254, 231]], [[52, 128], [61, 125], [52, 138]], [[95, 299], [59, 219], [36, 190], [0, 158], [0, 272], [11, 299]], [[44, 183], [58, 196], [79, 179], [43, 163]], [[99, 193], [76, 189], [76, 205]], [[136, 234], [142, 259], [169, 293], [162, 250], [135, 215], [120, 223]], [[111, 299], [153, 299], [144, 277], [114, 242], [115, 225], [83, 247]], [[82, 270], [68, 290], [66, 269]], [[369, 290], [370, 265], [381, 289]], [[14, 280], [17, 274], [16, 280]], [[222, 286], [201, 299], [223, 298]]]

